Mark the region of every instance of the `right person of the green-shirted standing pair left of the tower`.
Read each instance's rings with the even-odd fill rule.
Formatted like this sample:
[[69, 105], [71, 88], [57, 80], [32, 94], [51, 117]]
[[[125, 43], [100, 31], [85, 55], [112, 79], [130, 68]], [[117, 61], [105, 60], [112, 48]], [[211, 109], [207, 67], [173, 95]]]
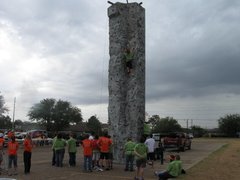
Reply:
[[75, 134], [70, 134], [70, 138], [67, 141], [68, 145], [68, 154], [69, 154], [69, 166], [76, 166], [76, 152], [77, 152], [77, 145], [76, 145], [76, 138]]

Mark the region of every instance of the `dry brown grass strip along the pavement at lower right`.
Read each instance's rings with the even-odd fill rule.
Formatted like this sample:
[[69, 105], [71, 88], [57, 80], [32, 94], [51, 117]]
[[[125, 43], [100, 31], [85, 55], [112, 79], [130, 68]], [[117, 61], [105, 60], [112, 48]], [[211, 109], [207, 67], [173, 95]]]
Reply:
[[239, 180], [240, 179], [240, 139], [209, 139], [226, 143], [207, 158], [193, 166], [184, 180]]

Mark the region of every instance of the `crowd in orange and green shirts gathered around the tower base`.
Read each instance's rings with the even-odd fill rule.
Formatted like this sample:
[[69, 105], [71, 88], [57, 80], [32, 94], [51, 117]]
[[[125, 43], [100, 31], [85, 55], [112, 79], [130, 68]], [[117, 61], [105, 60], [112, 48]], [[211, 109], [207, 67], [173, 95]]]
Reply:
[[[0, 133], [0, 167], [3, 161], [3, 134]], [[104, 133], [103, 136], [86, 134], [81, 141], [83, 148], [83, 170], [85, 172], [109, 171], [113, 168], [113, 141], [111, 136]], [[160, 162], [163, 164], [164, 148], [161, 142], [158, 144], [160, 152]], [[27, 175], [31, 169], [31, 156], [33, 142], [30, 135], [26, 135], [23, 141], [23, 162], [24, 173]], [[139, 142], [134, 142], [132, 138], [128, 138], [123, 147], [123, 156], [125, 158], [125, 171], [135, 171], [136, 180], [144, 179], [144, 168], [146, 165], [154, 167], [155, 161], [155, 147], [156, 142], [152, 135], [148, 138], [144, 136], [140, 138]], [[7, 156], [8, 156], [8, 175], [17, 175], [17, 152], [19, 144], [15, 140], [14, 134], [9, 134], [7, 142]], [[70, 134], [68, 140], [65, 140], [61, 133], [53, 138], [52, 142], [52, 166], [63, 167], [63, 159], [67, 149], [69, 160], [69, 167], [76, 166], [77, 140], [74, 134]], [[168, 178], [176, 178], [181, 173], [185, 173], [182, 169], [182, 162], [179, 154], [169, 156], [169, 164], [167, 169], [162, 172], [155, 172], [155, 175], [160, 180]], [[134, 169], [134, 165], [136, 168]], [[0, 169], [1, 170], [1, 169]], [[1, 171], [0, 171], [1, 173]]]

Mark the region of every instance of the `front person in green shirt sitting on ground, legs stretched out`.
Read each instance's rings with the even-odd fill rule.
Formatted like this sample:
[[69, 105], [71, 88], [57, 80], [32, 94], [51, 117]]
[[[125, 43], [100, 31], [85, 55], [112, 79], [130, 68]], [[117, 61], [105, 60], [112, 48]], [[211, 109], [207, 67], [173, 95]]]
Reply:
[[155, 172], [155, 175], [159, 177], [159, 180], [166, 180], [168, 178], [176, 178], [179, 176], [179, 163], [175, 160], [174, 155], [169, 156], [170, 163], [167, 166], [167, 170], [163, 172]]

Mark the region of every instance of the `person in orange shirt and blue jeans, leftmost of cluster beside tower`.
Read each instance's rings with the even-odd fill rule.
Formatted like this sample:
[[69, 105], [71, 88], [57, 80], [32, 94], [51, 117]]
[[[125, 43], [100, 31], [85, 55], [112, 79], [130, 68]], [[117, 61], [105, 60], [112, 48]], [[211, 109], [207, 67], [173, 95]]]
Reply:
[[92, 172], [92, 150], [93, 142], [89, 139], [89, 135], [85, 136], [85, 139], [82, 141], [83, 146], [83, 155], [84, 155], [84, 170]]

